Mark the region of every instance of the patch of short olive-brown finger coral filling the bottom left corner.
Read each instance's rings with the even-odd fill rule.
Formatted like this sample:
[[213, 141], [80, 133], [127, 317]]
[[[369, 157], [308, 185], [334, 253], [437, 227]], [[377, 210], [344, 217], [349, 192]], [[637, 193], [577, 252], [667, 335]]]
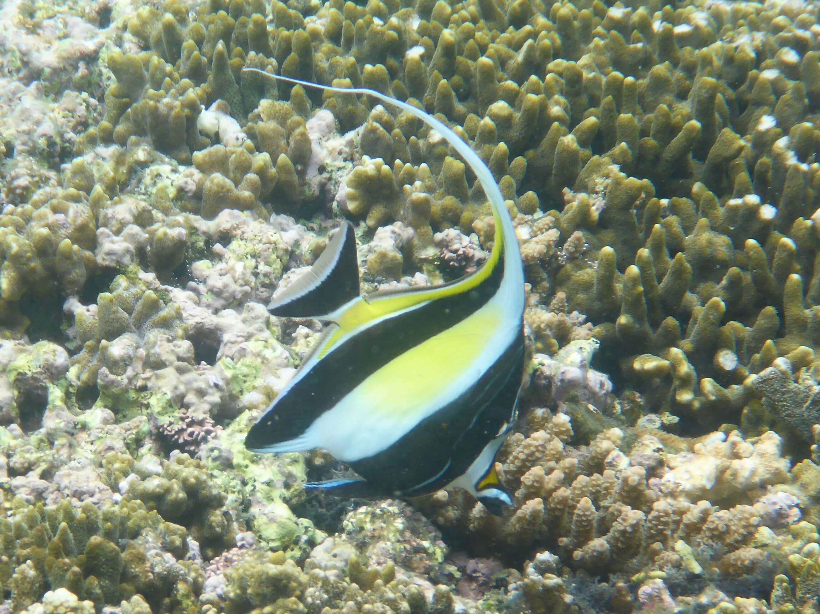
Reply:
[[[3, 586], [11, 592], [14, 612], [65, 611], [58, 603], [73, 603], [69, 611], [99, 612], [137, 592], [152, 601], [177, 601], [202, 586], [201, 572], [183, 560], [185, 527], [163, 521], [138, 502], [102, 509], [92, 503], [75, 509], [67, 501], [48, 508], [18, 502], [0, 530]], [[46, 587], [54, 592], [43, 594]], [[78, 603], [77, 596], [86, 601]]]

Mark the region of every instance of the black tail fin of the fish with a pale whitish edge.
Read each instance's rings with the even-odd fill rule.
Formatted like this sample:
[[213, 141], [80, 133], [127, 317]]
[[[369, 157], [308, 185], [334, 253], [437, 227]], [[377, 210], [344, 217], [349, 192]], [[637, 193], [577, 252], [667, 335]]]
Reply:
[[344, 222], [311, 269], [271, 300], [267, 310], [284, 318], [328, 318], [359, 296], [353, 224]]

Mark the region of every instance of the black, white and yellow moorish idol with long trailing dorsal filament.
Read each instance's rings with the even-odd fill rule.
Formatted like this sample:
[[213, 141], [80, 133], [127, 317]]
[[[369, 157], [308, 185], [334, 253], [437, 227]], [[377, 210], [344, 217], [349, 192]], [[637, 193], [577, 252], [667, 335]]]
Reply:
[[524, 369], [524, 272], [512, 219], [490, 169], [440, 120], [424, 121], [467, 161], [490, 200], [493, 250], [475, 273], [435, 287], [360, 296], [353, 225], [344, 222], [312, 268], [268, 311], [328, 323], [312, 354], [248, 431], [255, 452], [326, 449], [362, 479], [305, 485], [354, 497], [416, 497], [461, 486], [491, 512], [512, 499], [494, 458], [517, 415]]

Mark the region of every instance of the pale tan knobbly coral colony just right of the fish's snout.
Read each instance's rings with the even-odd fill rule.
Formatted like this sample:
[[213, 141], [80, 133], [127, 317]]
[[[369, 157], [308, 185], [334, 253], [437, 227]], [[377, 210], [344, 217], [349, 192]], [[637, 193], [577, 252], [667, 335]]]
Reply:
[[[789, 510], [798, 499], [788, 493], [799, 491], [790, 484], [797, 476], [771, 431], [692, 442], [613, 428], [573, 446], [566, 414], [529, 420], [534, 430], [514, 433], [497, 464], [515, 508], [498, 519], [467, 495], [441, 492], [423, 505], [440, 526], [481, 549], [517, 557], [547, 546], [564, 566], [626, 577], [658, 571], [692, 581], [711, 577], [715, 561], [730, 577], [749, 576], [796, 552], [789, 527], [799, 517]], [[767, 487], [772, 494], [760, 497]]]

